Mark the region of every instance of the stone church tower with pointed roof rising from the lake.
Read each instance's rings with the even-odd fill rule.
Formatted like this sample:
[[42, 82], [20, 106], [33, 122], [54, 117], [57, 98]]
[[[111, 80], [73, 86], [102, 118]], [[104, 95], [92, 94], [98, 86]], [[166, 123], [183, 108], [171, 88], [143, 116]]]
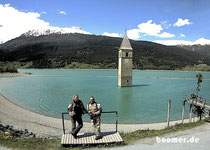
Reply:
[[129, 42], [127, 33], [125, 33], [123, 41], [119, 48], [118, 63], [118, 86], [132, 86], [132, 67], [133, 67], [133, 49]]

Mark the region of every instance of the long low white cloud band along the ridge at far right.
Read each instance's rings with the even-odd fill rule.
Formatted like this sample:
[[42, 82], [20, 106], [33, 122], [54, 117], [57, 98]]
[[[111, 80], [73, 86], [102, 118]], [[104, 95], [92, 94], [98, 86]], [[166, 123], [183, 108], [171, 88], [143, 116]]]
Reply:
[[205, 38], [200, 38], [194, 42], [185, 41], [185, 40], [156, 40], [153, 41], [155, 43], [163, 44], [163, 45], [210, 45], [210, 40]]

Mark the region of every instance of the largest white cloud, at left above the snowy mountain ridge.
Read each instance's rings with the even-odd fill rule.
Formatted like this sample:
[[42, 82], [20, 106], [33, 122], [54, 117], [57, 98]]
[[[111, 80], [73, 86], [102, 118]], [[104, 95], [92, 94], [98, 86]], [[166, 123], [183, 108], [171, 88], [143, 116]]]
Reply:
[[50, 26], [49, 22], [41, 20], [40, 14], [37, 12], [21, 12], [11, 7], [9, 4], [0, 4], [0, 40], [2, 42], [18, 37], [29, 30], [54, 30], [55, 28], [63, 31], [65, 30], [65, 32], [69, 33], [90, 34], [78, 27], [53, 27]]

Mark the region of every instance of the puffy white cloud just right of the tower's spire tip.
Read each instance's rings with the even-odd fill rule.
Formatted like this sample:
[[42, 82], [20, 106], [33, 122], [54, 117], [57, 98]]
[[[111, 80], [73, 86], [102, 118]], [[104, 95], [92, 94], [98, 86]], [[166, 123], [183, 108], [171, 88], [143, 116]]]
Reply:
[[160, 38], [175, 37], [175, 35], [171, 33], [161, 33], [162, 30], [161, 24], [152, 23], [152, 20], [148, 20], [146, 23], [139, 24], [137, 29], [128, 30], [127, 33], [128, 37], [131, 39], [139, 39], [141, 36], [156, 36]]

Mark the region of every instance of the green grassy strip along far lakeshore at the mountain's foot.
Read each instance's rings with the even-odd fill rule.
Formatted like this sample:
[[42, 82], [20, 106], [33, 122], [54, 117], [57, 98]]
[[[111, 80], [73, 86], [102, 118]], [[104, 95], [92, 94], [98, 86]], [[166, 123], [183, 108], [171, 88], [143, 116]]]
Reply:
[[[86, 64], [79, 62], [72, 62], [71, 64], [66, 64], [63, 67], [59, 67], [58, 65], [53, 66], [48, 69], [117, 69], [118, 64], [110, 63], [110, 64]], [[0, 63], [0, 72], [17, 72], [17, 68], [19, 69], [34, 69], [33, 62], [11, 62], [8, 64], [2, 65]], [[142, 68], [138, 68], [137, 66], [133, 66], [133, 70], [154, 70], [154, 71], [210, 71], [210, 65], [207, 64], [199, 64], [192, 66], [185, 66], [183, 68], [174, 68], [172, 69], [170, 66], [154, 66], [154, 65], [144, 65]]]

